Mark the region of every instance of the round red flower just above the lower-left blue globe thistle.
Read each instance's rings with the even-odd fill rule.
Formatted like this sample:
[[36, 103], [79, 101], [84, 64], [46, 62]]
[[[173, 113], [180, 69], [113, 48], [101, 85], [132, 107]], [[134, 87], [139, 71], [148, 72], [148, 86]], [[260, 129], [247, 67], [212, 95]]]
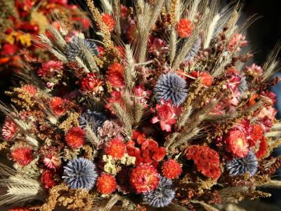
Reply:
[[73, 127], [67, 131], [65, 139], [67, 144], [73, 149], [83, 146], [86, 137], [86, 132], [79, 127]]

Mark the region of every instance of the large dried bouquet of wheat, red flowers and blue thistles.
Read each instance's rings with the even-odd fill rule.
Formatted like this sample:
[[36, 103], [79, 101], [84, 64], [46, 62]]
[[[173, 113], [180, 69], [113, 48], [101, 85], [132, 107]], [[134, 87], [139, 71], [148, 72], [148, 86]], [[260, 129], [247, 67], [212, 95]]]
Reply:
[[280, 166], [268, 157], [281, 143], [270, 91], [278, 62], [272, 54], [241, 68], [251, 52], [234, 26], [239, 10], [86, 2], [95, 30], [51, 23], [37, 36], [48, 57], [22, 52], [28, 69], [5, 92], [0, 151], [14, 169], [0, 163], [0, 206], [17, 203], [14, 188], [20, 200], [44, 199], [26, 209], [48, 211], [194, 210], [225, 202], [223, 193], [268, 196], [249, 184]]

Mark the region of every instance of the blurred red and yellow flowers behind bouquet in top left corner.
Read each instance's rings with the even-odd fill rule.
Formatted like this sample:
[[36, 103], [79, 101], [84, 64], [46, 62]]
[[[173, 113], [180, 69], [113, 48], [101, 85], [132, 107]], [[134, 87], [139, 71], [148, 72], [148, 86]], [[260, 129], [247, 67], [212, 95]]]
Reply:
[[[0, 71], [20, 70], [20, 50], [29, 50], [31, 56], [47, 57], [44, 49], [34, 46], [38, 34], [47, 33], [48, 24], [59, 27], [56, 20], [65, 19], [86, 32], [89, 18], [79, 7], [65, 0], [11, 0], [0, 2]], [[48, 57], [46, 58], [48, 60]]]

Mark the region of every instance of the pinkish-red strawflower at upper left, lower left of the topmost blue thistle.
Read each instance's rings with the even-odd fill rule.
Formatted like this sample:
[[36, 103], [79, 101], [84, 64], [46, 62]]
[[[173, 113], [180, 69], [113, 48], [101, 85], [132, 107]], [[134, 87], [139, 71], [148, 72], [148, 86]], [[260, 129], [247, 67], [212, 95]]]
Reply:
[[60, 73], [62, 69], [63, 62], [51, 60], [42, 64], [42, 67], [37, 71], [37, 75], [51, 78], [55, 73]]

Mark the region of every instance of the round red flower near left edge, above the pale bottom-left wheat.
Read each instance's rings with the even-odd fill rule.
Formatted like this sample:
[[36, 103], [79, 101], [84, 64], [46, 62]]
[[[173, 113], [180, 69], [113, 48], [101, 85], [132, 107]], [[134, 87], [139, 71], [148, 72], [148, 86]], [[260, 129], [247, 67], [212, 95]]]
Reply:
[[27, 147], [18, 147], [12, 151], [11, 155], [13, 161], [19, 163], [20, 165], [28, 165], [34, 159], [32, 149]]

